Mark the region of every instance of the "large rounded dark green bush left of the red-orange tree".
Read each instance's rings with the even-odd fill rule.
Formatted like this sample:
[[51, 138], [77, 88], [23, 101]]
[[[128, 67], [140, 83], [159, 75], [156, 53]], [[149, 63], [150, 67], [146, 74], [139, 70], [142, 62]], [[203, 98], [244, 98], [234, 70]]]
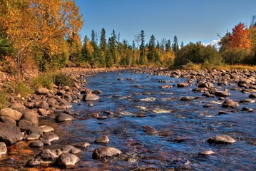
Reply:
[[214, 46], [204, 46], [203, 43], [189, 43], [180, 48], [174, 58], [175, 68], [186, 65], [187, 63], [206, 63], [218, 66], [222, 63], [222, 57]]

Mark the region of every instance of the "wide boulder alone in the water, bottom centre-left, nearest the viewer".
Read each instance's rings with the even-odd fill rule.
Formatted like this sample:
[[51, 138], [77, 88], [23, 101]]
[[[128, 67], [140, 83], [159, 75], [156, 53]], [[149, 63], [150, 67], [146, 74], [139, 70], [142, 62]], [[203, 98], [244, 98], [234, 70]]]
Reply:
[[120, 155], [121, 150], [114, 147], [100, 146], [93, 151], [93, 159], [100, 159], [102, 157], [112, 157], [114, 155]]

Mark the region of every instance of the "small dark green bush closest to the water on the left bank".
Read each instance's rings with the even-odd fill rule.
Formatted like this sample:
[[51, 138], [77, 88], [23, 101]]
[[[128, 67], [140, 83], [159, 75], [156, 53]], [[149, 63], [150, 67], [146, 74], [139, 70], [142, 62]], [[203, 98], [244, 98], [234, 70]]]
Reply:
[[53, 83], [55, 83], [56, 86], [70, 86], [70, 87], [74, 86], [75, 84], [73, 79], [64, 73], [57, 73], [53, 75]]

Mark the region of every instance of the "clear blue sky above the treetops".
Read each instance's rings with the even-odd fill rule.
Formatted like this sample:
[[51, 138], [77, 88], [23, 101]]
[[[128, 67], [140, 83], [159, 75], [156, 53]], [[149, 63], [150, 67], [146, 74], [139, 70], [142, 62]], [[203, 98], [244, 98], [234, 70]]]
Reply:
[[82, 39], [105, 28], [107, 38], [114, 29], [130, 44], [142, 29], [146, 43], [152, 34], [159, 41], [177, 36], [179, 43], [210, 43], [240, 22], [249, 26], [256, 15], [256, 0], [76, 0], [76, 5], [83, 14]]

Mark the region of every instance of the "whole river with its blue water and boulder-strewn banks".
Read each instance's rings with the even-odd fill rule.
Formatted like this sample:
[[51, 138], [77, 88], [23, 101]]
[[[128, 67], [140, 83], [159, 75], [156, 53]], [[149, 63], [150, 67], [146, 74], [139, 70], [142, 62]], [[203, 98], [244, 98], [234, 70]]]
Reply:
[[255, 150], [256, 71], [64, 72], [74, 87], [39, 88], [0, 111], [1, 168], [256, 168], [234, 155]]

